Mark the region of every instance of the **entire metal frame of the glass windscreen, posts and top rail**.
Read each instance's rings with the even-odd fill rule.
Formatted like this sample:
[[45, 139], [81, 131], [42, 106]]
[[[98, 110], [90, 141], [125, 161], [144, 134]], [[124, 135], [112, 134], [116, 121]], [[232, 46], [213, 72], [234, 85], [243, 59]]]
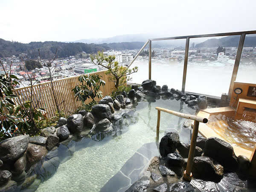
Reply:
[[228, 33], [215, 33], [215, 34], [205, 34], [205, 35], [188, 35], [188, 36], [177, 36], [177, 37], [167, 37], [167, 38], [152, 38], [148, 39], [148, 41], [144, 44], [144, 46], [140, 49], [140, 51], [137, 53], [137, 55], [134, 57], [133, 61], [131, 61], [131, 64], [129, 64], [128, 67], [130, 67], [134, 61], [137, 59], [137, 57], [140, 55], [140, 53], [143, 51], [143, 49], [148, 44], [148, 79], [151, 79], [151, 43], [152, 41], [164, 41], [164, 40], [175, 40], [175, 39], [186, 39], [186, 47], [185, 47], [185, 58], [184, 58], [184, 68], [183, 68], [183, 80], [182, 80], [182, 87], [181, 90], [185, 91], [185, 85], [186, 85], [186, 72], [187, 72], [187, 64], [188, 64], [188, 53], [189, 53], [189, 40], [191, 38], [206, 38], [206, 37], [219, 37], [219, 36], [231, 36], [231, 35], [240, 35], [240, 41], [239, 46], [236, 53], [236, 61], [233, 67], [233, 73], [230, 80], [230, 87], [229, 87], [229, 94], [228, 99], [231, 97], [231, 93], [233, 91], [233, 85], [234, 81], [236, 81], [236, 76], [239, 69], [239, 63], [241, 59], [241, 54], [243, 51], [244, 46], [244, 40], [245, 36], [249, 34], [256, 34], [256, 31], [242, 31], [242, 32], [228, 32]]

